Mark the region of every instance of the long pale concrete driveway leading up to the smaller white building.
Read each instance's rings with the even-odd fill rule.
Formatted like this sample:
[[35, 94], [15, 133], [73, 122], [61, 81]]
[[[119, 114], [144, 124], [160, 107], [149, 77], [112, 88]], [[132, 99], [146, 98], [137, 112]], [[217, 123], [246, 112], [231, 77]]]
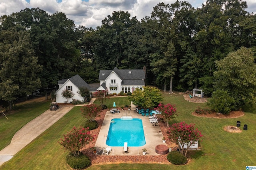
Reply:
[[[90, 103], [93, 103], [95, 98], [92, 98]], [[56, 123], [66, 113], [68, 113], [74, 105], [60, 106], [57, 111], [48, 109], [14, 134], [11, 143], [4, 149], [0, 150], [0, 166], [10, 160], [17, 152], [39, 136], [42, 132]]]

